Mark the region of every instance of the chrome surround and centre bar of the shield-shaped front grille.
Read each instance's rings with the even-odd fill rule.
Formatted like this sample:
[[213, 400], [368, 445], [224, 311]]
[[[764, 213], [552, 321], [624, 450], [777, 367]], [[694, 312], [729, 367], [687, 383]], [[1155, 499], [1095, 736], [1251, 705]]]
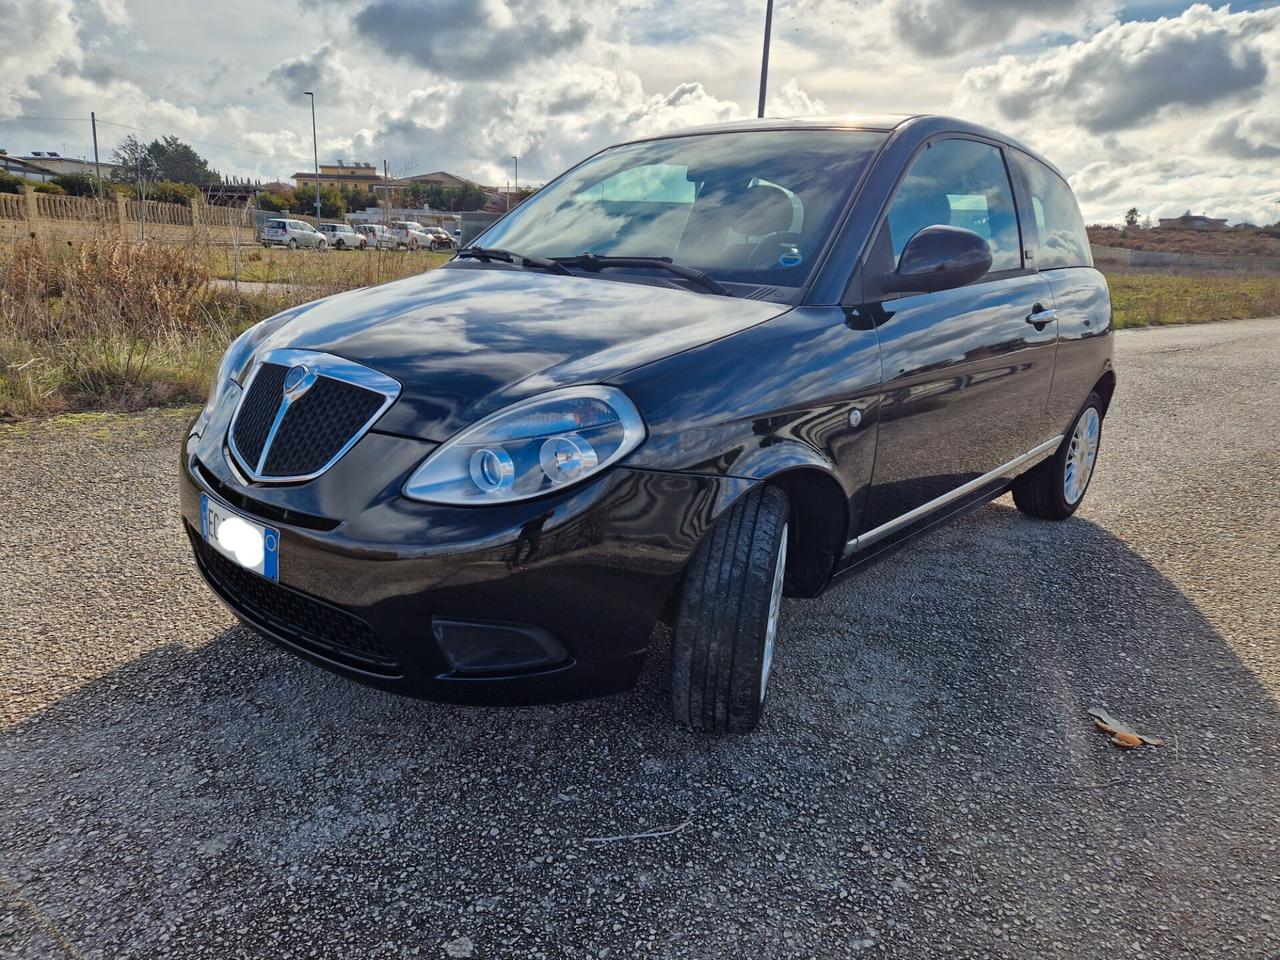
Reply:
[[[284, 415], [288, 412], [289, 404], [306, 393], [305, 389], [298, 389], [292, 393], [284, 392], [280, 394], [280, 406], [276, 407], [275, 419], [271, 421], [271, 428], [268, 430], [266, 440], [262, 443], [262, 453], [259, 456], [257, 463], [250, 465], [250, 462], [236, 448], [236, 424], [239, 420], [239, 413], [244, 406], [244, 401], [248, 398], [250, 388], [253, 385], [253, 379], [257, 376], [264, 364], [279, 364], [280, 366], [288, 367], [305, 366], [307, 367], [308, 378], [306, 383], [307, 388], [315, 383], [316, 378], [326, 376], [330, 380], [340, 380], [342, 383], [361, 387], [372, 393], [380, 393], [383, 396], [383, 403], [378, 407], [374, 415], [351, 435], [351, 438], [342, 445], [342, 449], [330, 457], [329, 461], [319, 470], [311, 474], [300, 474], [297, 476], [264, 476], [261, 471], [266, 467], [266, 457], [271, 452], [271, 444], [275, 443], [275, 435], [280, 429], [280, 424], [284, 422]], [[387, 412], [387, 408], [397, 401], [401, 385], [398, 380], [393, 380], [390, 376], [380, 374], [376, 370], [371, 370], [370, 367], [352, 360], [335, 357], [332, 353], [321, 353], [312, 349], [278, 348], [268, 351], [261, 356], [253, 357], [253, 369], [250, 371], [250, 375], [244, 378], [244, 387], [241, 389], [241, 396], [237, 399], [236, 413], [232, 416], [232, 422], [227, 426], [227, 447], [232, 452], [230, 460], [234, 461], [234, 465], [247, 474], [251, 480], [257, 483], [296, 484], [303, 480], [315, 480], [323, 472], [329, 470], [329, 467], [342, 460], [347, 454], [347, 451], [355, 447], [356, 442], [369, 433], [369, 429], [378, 422], [378, 419]]]

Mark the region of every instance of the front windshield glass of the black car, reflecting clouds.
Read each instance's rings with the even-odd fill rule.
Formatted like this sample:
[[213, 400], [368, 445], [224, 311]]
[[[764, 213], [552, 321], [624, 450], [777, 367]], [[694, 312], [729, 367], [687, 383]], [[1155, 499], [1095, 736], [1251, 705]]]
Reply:
[[669, 257], [718, 280], [797, 287], [883, 137], [755, 131], [628, 143], [573, 168], [475, 244]]

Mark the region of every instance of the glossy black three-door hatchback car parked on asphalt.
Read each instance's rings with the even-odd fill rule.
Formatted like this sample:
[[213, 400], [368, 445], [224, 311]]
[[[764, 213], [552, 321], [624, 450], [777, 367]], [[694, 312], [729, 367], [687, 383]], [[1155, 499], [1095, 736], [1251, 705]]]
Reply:
[[700, 128], [250, 329], [182, 515], [244, 622], [346, 676], [607, 694], [664, 617], [677, 719], [745, 731], [782, 595], [1010, 489], [1075, 511], [1111, 346], [1071, 191], [1025, 146], [940, 116]]

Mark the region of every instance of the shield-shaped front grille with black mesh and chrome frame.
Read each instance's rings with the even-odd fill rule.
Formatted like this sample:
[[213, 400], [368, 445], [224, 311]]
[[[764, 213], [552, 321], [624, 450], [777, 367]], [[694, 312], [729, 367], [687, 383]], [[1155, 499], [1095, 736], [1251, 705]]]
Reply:
[[337, 463], [398, 396], [396, 380], [360, 364], [275, 349], [250, 375], [229, 445], [253, 480], [310, 480]]

